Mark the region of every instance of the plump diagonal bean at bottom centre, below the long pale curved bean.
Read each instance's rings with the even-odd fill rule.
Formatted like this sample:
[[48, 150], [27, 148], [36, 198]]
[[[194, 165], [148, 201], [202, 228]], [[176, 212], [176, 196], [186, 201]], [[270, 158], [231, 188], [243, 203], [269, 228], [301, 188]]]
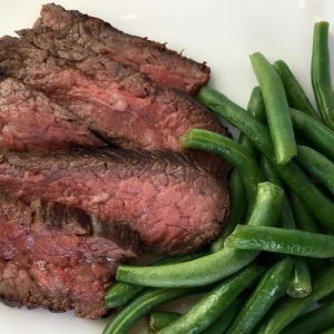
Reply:
[[159, 331], [159, 334], [195, 334], [212, 325], [218, 316], [248, 287], [261, 274], [263, 268], [250, 265], [242, 272], [223, 281], [217, 287], [205, 295], [186, 314], [176, 322]]

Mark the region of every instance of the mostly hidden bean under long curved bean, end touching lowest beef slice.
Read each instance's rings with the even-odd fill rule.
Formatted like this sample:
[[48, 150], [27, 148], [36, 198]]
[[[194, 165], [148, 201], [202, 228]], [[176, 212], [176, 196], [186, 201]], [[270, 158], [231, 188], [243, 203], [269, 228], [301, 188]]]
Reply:
[[[203, 256], [204, 252], [195, 254], [169, 256], [150, 264], [153, 266], [183, 263]], [[105, 301], [108, 308], [119, 307], [131, 301], [145, 289], [145, 286], [132, 285], [124, 282], [116, 282], [106, 293]]]

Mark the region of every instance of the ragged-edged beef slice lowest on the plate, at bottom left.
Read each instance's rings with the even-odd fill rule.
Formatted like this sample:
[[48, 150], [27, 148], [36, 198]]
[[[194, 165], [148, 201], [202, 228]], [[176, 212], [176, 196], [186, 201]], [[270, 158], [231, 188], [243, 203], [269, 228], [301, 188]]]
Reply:
[[120, 224], [102, 237], [101, 222], [79, 209], [0, 199], [0, 298], [11, 306], [104, 316], [106, 288], [117, 264], [136, 256], [138, 237]]

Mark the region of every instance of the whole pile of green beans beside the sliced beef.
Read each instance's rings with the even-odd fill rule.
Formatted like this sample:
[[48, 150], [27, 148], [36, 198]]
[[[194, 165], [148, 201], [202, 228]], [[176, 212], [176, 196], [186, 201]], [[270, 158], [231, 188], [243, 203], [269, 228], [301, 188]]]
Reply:
[[[160, 334], [333, 332], [328, 23], [314, 27], [311, 71], [317, 108], [283, 60], [272, 65], [256, 52], [250, 62], [259, 87], [247, 110], [209, 87], [196, 96], [219, 120], [239, 129], [238, 140], [205, 129], [180, 137], [184, 149], [208, 151], [234, 167], [225, 229], [206, 252], [120, 265], [105, 296], [106, 306], [119, 312], [104, 334], [127, 334], [144, 316], [149, 333]], [[194, 294], [200, 294], [198, 302], [183, 314], [157, 310]]]

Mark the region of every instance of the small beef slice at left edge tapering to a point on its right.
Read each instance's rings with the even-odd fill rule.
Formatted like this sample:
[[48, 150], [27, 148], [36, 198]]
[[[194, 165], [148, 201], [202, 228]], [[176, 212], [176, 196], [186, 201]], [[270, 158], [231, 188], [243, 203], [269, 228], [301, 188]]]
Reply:
[[78, 118], [43, 94], [8, 78], [0, 82], [0, 148], [55, 150], [105, 146]]

